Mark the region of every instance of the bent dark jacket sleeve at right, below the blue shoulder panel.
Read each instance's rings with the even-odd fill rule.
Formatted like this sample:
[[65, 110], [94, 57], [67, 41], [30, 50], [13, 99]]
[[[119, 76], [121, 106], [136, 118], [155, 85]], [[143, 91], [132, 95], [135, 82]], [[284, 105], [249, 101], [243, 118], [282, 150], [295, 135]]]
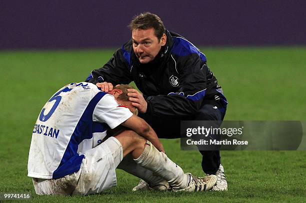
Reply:
[[148, 96], [147, 113], [153, 116], [184, 117], [198, 111], [206, 92], [207, 65], [197, 54], [177, 60], [179, 89], [167, 95]]

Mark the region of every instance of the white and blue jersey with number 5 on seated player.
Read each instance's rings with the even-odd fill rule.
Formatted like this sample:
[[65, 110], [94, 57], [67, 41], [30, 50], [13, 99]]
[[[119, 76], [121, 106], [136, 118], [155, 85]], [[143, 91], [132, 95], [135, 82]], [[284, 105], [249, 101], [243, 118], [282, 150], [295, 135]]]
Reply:
[[80, 82], [59, 89], [43, 106], [34, 125], [28, 176], [55, 179], [79, 170], [84, 152], [132, 116], [110, 94]]

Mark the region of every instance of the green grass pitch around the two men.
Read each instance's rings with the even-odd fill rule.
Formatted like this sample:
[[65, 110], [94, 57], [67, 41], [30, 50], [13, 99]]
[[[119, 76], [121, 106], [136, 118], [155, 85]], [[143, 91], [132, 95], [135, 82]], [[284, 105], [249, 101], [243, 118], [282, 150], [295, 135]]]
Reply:
[[[305, 120], [306, 47], [201, 48], [228, 99], [225, 120]], [[33, 125], [61, 86], [83, 81], [114, 49], [0, 51], [0, 192], [30, 192], [33, 201], [302, 202], [306, 151], [221, 151], [227, 192], [156, 192], [131, 189], [138, 178], [117, 170], [117, 186], [88, 196], [38, 196], [27, 177]], [[184, 171], [204, 175], [198, 151], [179, 139], [162, 140]]]

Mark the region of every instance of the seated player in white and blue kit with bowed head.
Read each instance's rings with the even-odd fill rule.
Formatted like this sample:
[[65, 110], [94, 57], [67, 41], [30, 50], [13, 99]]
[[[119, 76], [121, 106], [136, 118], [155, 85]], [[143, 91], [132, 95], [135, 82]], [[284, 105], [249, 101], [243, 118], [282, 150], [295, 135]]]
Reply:
[[[215, 175], [184, 173], [166, 156], [153, 129], [131, 112], [127, 88], [105, 93], [91, 83], [71, 83], [45, 103], [34, 125], [27, 166], [37, 194], [86, 195], [115, 186], [115, 168], [127, 154], [142, 168], [140, 178], [154, 173], [175, 191], [212, 188]], [[120, 124], [130, 130], [102, 141], [108, 126]]]

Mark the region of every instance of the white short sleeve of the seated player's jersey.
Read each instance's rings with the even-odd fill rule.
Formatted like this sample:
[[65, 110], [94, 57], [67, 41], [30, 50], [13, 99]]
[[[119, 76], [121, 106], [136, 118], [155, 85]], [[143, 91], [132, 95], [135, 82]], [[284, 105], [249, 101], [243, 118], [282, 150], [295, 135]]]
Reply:
[[119, 105], [112, 95], [105, 94], [95, 106], [92, 120], [105, 122], [113, 129], [131, 117], [132, 114], [128, 108]]

